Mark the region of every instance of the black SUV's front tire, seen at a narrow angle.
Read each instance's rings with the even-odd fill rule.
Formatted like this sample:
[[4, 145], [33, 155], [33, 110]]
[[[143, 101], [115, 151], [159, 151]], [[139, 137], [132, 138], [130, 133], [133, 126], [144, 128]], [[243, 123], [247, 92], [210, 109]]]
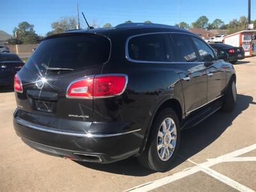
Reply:
[[235, 79], [232, 78], [230, 80], [230, 83], [228, 84], [227, 92], [225, 93], [222, 111], [231, 112], [236, 107], [236, 99], [237, 99], [236, 83], [235, 83]]

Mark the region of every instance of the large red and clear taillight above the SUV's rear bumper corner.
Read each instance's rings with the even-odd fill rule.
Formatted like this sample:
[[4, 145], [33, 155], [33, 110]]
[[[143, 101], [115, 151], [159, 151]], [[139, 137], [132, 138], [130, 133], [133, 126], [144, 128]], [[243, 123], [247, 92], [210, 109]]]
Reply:
[[123, 74], [84, 77], [70, 83], [67, 97], [75, 99], [114, 97], [124, 92], [127, 81], [128, 77]]

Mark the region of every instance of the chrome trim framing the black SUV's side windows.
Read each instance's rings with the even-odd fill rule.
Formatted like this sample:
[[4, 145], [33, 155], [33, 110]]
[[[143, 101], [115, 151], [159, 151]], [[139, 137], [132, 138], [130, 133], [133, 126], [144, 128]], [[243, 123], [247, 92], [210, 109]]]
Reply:
[[129, 56], [129, 51], [128, 51], [128, 46], [129, 46], [129, 41], [136, 37], [136, 36], [143, 36], [143, 35], [155, 35], [155, 34], [180, 34], [180, 35], [188, 35], [188, 36], [195, 36], [196, 38], [198, 38], [198, 36], [194, 35], [194, 34], [191, 34], [191, 33], [182, 33], [182, 32], [154, 32], [154, 33], [141, 33], [141, 34], [138, 34], [138, 35], [132, 35], [132, 36], [129, 36], [125, 42], [125, 58], [128, 60], [128, 61], [131, 61], [131, 62], [134, 62], [134, 63], [160, 63], [160, 64], [175, 64], [175, 63], [202, 63], [200, 61], [196, 61], [196, 62], [179, 62], [179, 61], [143, 61], [143, 60], [134, 60], [132, 58], [130, 58]]

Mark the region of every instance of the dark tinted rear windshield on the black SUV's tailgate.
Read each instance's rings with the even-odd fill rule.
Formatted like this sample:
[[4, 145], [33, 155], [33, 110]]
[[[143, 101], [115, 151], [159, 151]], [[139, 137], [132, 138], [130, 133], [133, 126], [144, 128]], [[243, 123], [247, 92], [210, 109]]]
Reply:
[[84, 68], [108, 61], [108, 38], [83, 34], [49, 38], [40, 43], [26, 67], [32, 70], [52, 68]]

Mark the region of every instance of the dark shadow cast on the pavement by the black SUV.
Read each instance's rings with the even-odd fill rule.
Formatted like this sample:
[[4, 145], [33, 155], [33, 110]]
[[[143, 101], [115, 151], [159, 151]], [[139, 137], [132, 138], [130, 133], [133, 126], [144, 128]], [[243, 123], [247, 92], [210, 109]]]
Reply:
[[[182, 131], [179, 156], [175, 159], [175, 162], [173, 162], [172, 168], [183, 163], [186, 159], [197, 154], [218, 139], [218, 137], [232, 125], [233, 120], [248, 108], [249, 104], [255, 104], [255, 102], [252, 101], [253, 97], [237, 94], [237, 105], [232, 113], [218, 111], [195, 127]], [[135, 157], [111, 164], [77, 163], [102, 172], [120, 175], [141, 177], [154, 173], [140, 166]]]

